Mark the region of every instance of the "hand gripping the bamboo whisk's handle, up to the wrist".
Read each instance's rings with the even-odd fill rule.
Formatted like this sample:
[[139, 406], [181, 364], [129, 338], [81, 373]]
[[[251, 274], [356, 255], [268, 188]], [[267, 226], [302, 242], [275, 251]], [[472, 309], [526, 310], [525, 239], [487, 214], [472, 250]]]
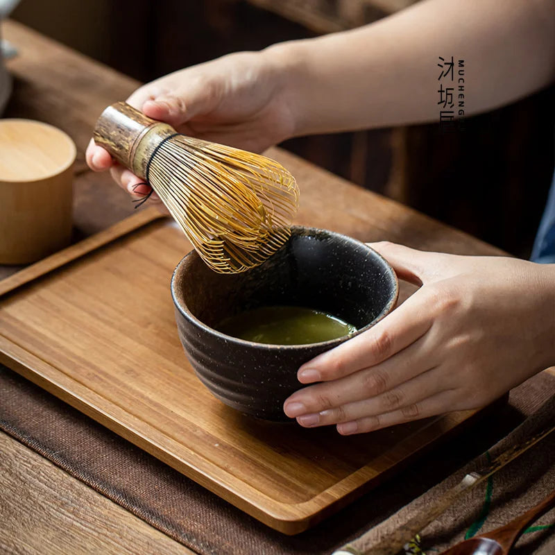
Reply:
[[[280, 60], [262, 53], [230, 54], [176, 71], [137, 89], [128, 103], [180, 133], [260, 153], [295, 134]], [[113, 162], [91, 140], [87, 163], [110, 169], [118, 185], [136, 197], [150, 187]], [[157, 200], [156, 194], [151, 199]]]

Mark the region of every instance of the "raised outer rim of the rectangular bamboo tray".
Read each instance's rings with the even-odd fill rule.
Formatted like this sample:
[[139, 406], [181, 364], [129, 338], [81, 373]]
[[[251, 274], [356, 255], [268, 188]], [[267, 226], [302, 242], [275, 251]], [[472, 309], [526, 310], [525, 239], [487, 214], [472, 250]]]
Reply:
[[[51, 271], [75, 262], [93, 253], [94, 250], [108, 246], [113, 241], [126, 237], [128, 234], [141, 230], [152, 223], [160, 223], [162, 219], [167, 219], [167, 216], [164, 216], [154, 207], [143, 210], [128, 216], [128, 218], [119, 221], [106, 230], [87, 237], [83, 241], [79, 241], [8, 276], [8, 278], [0, 281], [0, 302], [19, 287], [43, 278]], [[212, 493], [228, 500], [228, 502], [257, 518], [257, 520], [288, 535], [304, 531], [323, 520], [327, 515], [349, 504], [355, 497], [359, 497], [366, 490], [384, 481], [391, 473], [398, 472], [398, 470], [407, 466], [413, 458], [422, 455], [439, 439], [443, 440], [454, 432], [459, 432], [461, 427], [470, 425], [472, 420], [475, 420], [475, 417], [484, 410], [450, 413], [428, 419], [425, 425], [415, 432], [415, 434], [422, 434], [420, 446], [417, 449], [405, 447], [407, 454], [403, 456], [401, 461], [386, 471], [380, 472], [376, 476], [375, 472], [369, 469], [368, 465], [365, 465], [306, 501], [287, 503], [266, 495], [229, 472], [225, 472], [225, 480], [219, 479], [217, 472], [210, 472], [211, 468], [219, 467], [194, 450], [189, 451], [187, 459], [176, 455], [176, 451], [179, 451], [179, 449], [174, 448], [172, 454], [171, 449], [169, 449], [171, 445], [180, 447], [181, 450], [186, 446], [168, 437], [160, 429], [149, 425], [148, 422], [139, 420], [132, 413], [125, 411], [116, 404], [112, 404], [112, 412], [107, 413], [101, 408], [101, 403], [98, 402], [100, 398], [98, 393], [84, 384], [80, 384], [61, 369], [40, 359], [40, 357], [6, 338], [1, 333], [0, 363], [5, 364], [8, 368], [37, 384], [37, 386], [67, 402], [71, 407], [85, 413], [101, 425], [108, 427], [112, 432], [167, 463], [178, 472], [212, 491]], [[130, 421], [135, 421], [135, 426], [130, 425]], [[404, 443], [409, 443], [413, 435], [405, 437], [395, 445], [395, 448], [399, 449], [404, 446]], [[157, 438], [157, 440], [153, 438]], [[368, 477], [368, 472], [371, 472], [373, 476]]]

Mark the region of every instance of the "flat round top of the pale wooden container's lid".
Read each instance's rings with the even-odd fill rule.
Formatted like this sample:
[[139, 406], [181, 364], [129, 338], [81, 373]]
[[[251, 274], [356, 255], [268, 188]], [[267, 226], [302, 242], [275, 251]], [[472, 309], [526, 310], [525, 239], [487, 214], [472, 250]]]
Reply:
[[62, 130], [28, 119], [0, 119], [0, 182], [33, 182], [73, 164], [76, 146]]

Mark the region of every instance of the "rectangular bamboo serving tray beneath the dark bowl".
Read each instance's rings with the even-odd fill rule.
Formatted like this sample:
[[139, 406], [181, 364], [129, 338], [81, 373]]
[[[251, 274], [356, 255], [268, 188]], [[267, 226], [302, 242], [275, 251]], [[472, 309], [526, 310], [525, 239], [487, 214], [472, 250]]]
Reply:
[[139, 212], [0, 282], [0, 362], [283, 533], [311, 527], [477, 416], [362, 436], [243, 416], [180, 345], [169, 282], [191, 245]]

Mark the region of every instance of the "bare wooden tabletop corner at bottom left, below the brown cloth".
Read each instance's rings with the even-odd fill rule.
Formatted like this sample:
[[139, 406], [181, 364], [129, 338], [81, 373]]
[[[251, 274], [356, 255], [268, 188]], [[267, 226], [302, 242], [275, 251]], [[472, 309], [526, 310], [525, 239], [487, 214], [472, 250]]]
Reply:
[[3, 432], [0, 453], [1, 553], [194, 553]]

